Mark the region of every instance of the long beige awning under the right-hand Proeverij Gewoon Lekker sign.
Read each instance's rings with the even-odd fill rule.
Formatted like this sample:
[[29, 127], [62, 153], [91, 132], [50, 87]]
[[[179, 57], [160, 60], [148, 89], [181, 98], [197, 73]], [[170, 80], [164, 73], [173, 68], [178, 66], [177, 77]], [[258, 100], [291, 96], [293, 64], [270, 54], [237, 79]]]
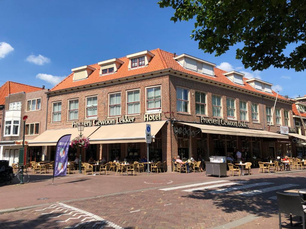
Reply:
[[288, 139], [287, 135], [273, 133], [273, 132], [269, 132], [265, 130], [243, 129], [243, 128], [237, 128], [237, 127], [205, 125], [205, 124], [188, 123], [188, 122], [178, 122], [178, 123], [200, 128], [202, 130], [202, 133]]

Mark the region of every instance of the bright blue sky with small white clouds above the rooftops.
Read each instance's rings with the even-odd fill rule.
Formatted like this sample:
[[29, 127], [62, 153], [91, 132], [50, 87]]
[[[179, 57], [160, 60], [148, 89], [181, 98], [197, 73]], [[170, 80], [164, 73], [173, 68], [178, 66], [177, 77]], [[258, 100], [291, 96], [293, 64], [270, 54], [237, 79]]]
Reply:
[[160, 48], [261, 78], [282, 95], [306, 94], [305, 72], [244, 69], [235, 59], [241, 44], [219, 57], [199, 50], [190, 39], [193, 22], [174, 24], [173, 9], [156, 2], [0, 0], [0, 85], [10, 80], [52, 88], [74, 67]]

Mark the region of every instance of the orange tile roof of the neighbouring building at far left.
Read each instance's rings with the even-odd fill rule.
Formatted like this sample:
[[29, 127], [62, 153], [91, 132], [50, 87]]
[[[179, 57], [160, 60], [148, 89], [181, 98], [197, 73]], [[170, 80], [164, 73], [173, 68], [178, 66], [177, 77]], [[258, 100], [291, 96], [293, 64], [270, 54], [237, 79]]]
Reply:
[[34, 87], [22, 83], [16, 83], [16, 82], [11, 82], [7, 81], [5, 82], [1, 87], [0, 87], [0, 105], [5, 104], [5, 97], [8, 96], [9, 94], [14, 94], [18, 92], [34, 92], [34, 91], [39, 91], [42, 90], [39, 87]]

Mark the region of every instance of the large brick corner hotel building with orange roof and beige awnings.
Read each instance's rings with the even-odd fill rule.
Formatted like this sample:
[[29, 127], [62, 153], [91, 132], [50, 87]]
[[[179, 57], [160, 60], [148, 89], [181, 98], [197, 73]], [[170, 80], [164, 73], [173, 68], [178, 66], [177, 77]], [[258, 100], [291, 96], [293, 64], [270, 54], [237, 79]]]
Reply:
[[[161, 49], [104, 60], [72, 69], [47, 92], [47, 131], [29, 145], [48, 146], [46, 157], [53, 160], [59, 137], [78, 135], [84, 123], [91, 147], [82, 158], [136, 160], [146, 154], [150, 123], [149, 159], [167, 161], [168, 169], [175, 155], [207, 159], [239, 149], [252, 161], [292, 154], [288, 135], [278, 132], [294, 126], [293, 101], [278, 95], [272, 115], [271, 86]], [[70, 150], [73, 160], [79, 152]]]

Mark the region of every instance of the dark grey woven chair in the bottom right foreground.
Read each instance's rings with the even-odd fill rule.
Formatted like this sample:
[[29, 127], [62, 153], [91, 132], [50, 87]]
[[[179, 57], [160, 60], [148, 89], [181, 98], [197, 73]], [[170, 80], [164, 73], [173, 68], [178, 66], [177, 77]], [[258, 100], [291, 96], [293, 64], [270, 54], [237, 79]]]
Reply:
[[305, 229], [305, 219], [306, 214], [302, 199], [298, 193], [280, 193], [276, 192], [277, 204], [278, 204], [278, 218], [279, 218], [279, 228], [282, 229], [282, 213], [290, 215], [290, 225], [292, 224], [292, 215], [300, 216], [302, 218], [303, 229]]

